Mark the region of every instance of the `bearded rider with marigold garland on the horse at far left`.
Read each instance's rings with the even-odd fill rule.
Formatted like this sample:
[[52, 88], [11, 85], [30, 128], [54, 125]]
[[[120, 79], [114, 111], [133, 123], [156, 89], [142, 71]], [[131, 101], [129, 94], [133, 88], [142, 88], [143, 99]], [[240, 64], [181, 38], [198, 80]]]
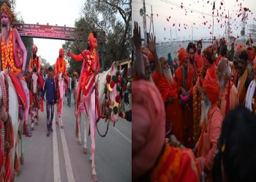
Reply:
[[[15, 28], [11, 25], [14, 20], [10, 4], [4, 2], [0, 9], [1, 14], [1, 70], [9, 70], [9, 76], [15, 85], [15, 90], [18, 92], [20, 98], [20, 105], [24, 110], [24, 124], [23, 134], [27, 137], [31, 137], [31, 132], [27, 125], [27, 119], [29, 116], [29, 89], [26, 81], [23, 78], [23, 72], [26, 68], [26, 47], [23, 41], [20, 39], [20, 35]], [[11, 50], [11, 52], [10, 52]], [[22, 73], [19, 74], [18, 73]], [[19, 83], [20, 82], [20, 83]], [[20, 86], [21, 85], [21, 86]], [[22, 114], [20, 115], [22, 117]]]

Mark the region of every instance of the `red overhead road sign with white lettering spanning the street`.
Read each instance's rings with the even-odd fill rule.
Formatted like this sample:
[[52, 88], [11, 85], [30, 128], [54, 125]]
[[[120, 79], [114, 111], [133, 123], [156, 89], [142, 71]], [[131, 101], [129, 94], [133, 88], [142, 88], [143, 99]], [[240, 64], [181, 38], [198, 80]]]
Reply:
[[14, 26], [18, 33], [20, 33], [20, 36], [71, 41], [85, 39], [84, 30], [81, 28], [25, 23], [14, 23]]

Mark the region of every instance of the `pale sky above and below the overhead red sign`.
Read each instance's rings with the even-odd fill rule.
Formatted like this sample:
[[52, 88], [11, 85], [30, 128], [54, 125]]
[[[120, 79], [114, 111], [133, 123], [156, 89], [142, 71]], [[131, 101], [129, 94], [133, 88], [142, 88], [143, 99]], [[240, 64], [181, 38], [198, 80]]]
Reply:
[[[75, 27], [75, 20], [81, 16], [85, 0], [16, 0], [15, 12], [25, 23], [39, 25], [59, 25]], [[50, 65], [56, 62], [59, 49], [65, 41], [55, 39], [35, 39], [37, 55], [48, 60]], [[66, 52], [67, 55], [67, 52]], [[31, 56], [31, 55], [28, 55]]]

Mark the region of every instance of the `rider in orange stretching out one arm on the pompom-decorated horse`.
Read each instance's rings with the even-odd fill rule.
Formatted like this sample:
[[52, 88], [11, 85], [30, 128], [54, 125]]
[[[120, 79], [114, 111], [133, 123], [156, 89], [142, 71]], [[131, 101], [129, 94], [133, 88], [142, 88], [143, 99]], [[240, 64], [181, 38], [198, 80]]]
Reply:
[[[83, 50], [83, 55], [75, 55], [72, 52], [68, 52], [67, 55], [71, 58], [73, 58], [75, 61], [82, 61], [84, 58], [86, 58], [86, 61], [83, 61], [83, 66], [81, 69], [80, 79], [79, 79], [79, 85], [78, 85], [78, 102], [77, 102], [77, 108], [80, 102], [82, 102], [82, 95], [83, 89], [86, 86], [86, 81], [91, 74], [93, 74], [94, 71], [99, 71], [100, 65], [99, 65], [99, 55], [97, 52], [97, 33], [92, 31], [89, 34], [88, 41], [87, 41], [87, 50]], [[84, 57], [83, 57], [84, 56]], [[90, 66], [88, 66], [90, 64]], [[93, 70], [92, 70], [93, 69]], [[77, 109], [76, 109], [77, 111]]]

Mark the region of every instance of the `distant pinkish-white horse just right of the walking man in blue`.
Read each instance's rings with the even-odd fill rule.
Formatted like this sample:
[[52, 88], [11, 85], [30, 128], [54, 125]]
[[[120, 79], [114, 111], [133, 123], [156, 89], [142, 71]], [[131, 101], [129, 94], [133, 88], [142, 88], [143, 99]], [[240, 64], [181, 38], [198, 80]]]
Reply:
[[62, 73], [59, 74], [58, 76], [58, 86], [59, 86], [59, 94], [60, 94], [60, 98], [59, 98], [59, 102], [57, 104], [57, 117], [56, 117], [56, 124], [59, 124], [59, 120], [61, 121], [61, 129], [63, 129], [63, 122], [62, 122], [62, 110], [63, 110], [63, 100], [64, 100], [64, 90], [65, 90], [65, 82], [64, 82], [64, 77], [62, 75]]

